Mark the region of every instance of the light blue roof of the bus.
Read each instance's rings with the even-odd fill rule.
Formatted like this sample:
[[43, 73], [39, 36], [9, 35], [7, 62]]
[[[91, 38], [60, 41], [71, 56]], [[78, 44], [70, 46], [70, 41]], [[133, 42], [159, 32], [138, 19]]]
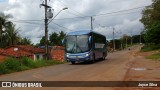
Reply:
[[[69, 32], [69, 33], [67, 33], [67, 35], [83, 35], [83, 34], [89, 34], [90, 32], [100, 34], [98, 32], [91, 31], [91, 30], [78, 30], [78, 31]], [[102, 34], [100, 34], [100, 35], [102, 35]], [[104, 35], [102, 35], [102, 36], [104, 36]]]

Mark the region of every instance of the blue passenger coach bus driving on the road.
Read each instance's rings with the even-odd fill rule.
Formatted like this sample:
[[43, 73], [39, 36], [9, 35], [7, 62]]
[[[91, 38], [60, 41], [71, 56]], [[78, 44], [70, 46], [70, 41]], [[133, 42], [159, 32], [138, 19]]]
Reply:
[[91, 30], [69, 32], [62, 41], [65, 46], [65, 59], [76, 62], [105, 59], [107, 56], [106, 37]]

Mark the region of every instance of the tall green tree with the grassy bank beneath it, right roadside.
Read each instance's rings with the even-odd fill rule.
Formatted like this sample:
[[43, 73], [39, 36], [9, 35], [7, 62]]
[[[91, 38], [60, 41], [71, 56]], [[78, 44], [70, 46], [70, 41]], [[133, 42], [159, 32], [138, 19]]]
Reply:
[[160, 60], [160, 0], [152, 0], [152, 4], [142, 11], [140, 21], [144, 24], [143, 37], [146, 45], [141, 51], [154, 51], [147, 59]]

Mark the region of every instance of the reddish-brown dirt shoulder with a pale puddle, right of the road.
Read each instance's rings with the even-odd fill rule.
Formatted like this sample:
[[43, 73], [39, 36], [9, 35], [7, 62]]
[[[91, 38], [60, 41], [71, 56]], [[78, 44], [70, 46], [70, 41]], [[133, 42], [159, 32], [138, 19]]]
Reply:
[[[160, 61], [146, 59], [146, 56], [152, 55], [157, 51], [139, 52], [137, 50], [130, 52], [132, 59], [126, 64], [128, 68], [124, 81], [160, 81]], [[125, 90], [160, 90], [158, 87], [137, 87], [125, 88]], [[118, 89], [119, 90], [119, 89]]]

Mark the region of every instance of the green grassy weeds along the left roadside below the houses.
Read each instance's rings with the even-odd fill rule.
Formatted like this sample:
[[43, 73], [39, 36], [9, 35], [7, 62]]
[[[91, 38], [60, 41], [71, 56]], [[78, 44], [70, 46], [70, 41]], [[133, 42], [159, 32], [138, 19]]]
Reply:
[[64, 62], [60, 62], [57, 60], [35, 60], [33, 61], [32, 59], [27, 58], [27, 57], [22, 57], [21, 59], [9, 57], [0, 64], [0, 75], [29, 70], [33, 68], [44, 67], [44, 66], [62, 64], [62, 63]]

